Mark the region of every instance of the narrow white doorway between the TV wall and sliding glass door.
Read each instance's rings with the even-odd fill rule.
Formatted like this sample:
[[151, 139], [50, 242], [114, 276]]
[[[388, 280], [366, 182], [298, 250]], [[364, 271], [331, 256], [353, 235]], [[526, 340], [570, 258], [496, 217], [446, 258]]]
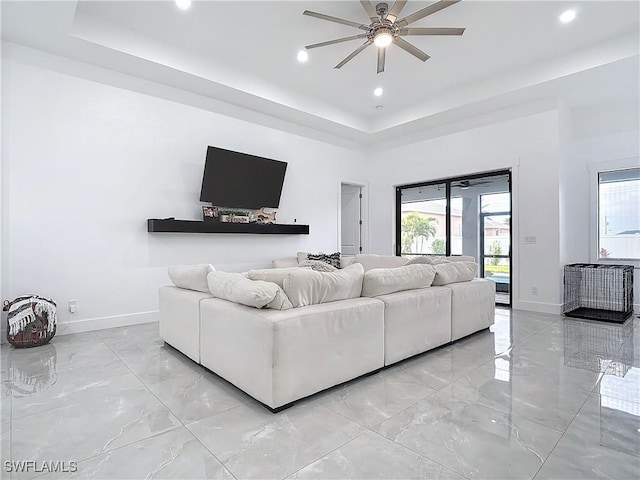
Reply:
[[340, 185], [340, 253], [362, 253], [362, 187]]

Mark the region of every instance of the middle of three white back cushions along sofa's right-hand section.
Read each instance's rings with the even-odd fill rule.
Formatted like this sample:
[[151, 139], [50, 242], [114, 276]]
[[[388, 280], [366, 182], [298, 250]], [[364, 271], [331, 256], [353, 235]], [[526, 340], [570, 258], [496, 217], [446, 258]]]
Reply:
[[436, 270], [431, 265], [372, 268], [364, 274], [362, 296], [375, 297], [403, 290], [429, 287], [435, 274]]

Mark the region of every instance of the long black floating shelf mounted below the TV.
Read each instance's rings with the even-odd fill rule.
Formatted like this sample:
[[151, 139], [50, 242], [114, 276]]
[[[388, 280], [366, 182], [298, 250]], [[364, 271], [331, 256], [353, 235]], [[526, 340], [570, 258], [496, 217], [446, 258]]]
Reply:
[[147, 219], [149, 233], [257, 233], [271, 235], [308, 235], [309, 225], [281, 223], [222, 223], [175, 218]]

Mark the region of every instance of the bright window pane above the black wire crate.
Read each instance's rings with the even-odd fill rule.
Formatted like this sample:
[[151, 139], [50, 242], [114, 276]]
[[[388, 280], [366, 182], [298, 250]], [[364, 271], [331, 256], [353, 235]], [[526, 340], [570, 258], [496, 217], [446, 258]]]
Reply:
[[640, 260], [640, 168], [598, 172], [598, 259]]

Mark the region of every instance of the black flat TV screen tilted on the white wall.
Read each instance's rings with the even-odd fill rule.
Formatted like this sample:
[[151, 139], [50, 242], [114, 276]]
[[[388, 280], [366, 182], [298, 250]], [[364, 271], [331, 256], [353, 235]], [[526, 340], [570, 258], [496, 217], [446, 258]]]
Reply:
[[277, 208], [286, 162], [207, 148], [200, 201], [229, 208]]

